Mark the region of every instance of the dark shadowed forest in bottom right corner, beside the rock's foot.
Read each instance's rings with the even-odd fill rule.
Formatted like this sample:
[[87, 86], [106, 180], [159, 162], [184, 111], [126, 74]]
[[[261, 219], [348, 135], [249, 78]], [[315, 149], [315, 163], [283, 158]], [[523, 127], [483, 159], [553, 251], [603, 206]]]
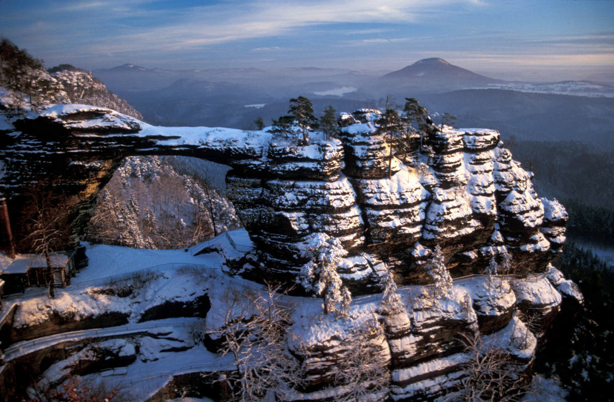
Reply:
[[[611, 401], [614, 373], [614, 267], [572, 241], [565, 243], [554, 264], [572, 279], [585, 303], [554, 322], [545, 349], [538, 354], [536, 370], [557, 377], [569, 392], [566, 400]], [[569, 312], [572, 314], [569, 314]]]

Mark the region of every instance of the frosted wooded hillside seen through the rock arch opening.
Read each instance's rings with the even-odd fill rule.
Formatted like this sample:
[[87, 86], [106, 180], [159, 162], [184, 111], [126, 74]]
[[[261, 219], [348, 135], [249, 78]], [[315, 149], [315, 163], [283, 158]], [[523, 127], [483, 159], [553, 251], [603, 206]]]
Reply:
[[176, 249], [241, 227], [235, 208], [212, 185], [214, 174], [201, 174], [181, 174], [165, 157], [126, 158], [99, 195], [88, 240]]

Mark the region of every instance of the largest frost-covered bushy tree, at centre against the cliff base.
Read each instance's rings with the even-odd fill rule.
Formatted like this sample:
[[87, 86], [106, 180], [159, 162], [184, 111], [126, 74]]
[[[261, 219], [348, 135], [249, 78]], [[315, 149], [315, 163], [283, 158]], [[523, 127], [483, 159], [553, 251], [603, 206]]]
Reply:
[[[306, 238], [306, 246], [300, 255], [308, 258], [298, 274], [297, 283], [306, 290], [324, 297], [324, 314], [343, 316], [349, 308], [352, 296], [343, 285], [337, 267], [348, 254], [341, 241], [326, 233], [312, 233]], [[341, 303], [341, 306], [338, 304]]]

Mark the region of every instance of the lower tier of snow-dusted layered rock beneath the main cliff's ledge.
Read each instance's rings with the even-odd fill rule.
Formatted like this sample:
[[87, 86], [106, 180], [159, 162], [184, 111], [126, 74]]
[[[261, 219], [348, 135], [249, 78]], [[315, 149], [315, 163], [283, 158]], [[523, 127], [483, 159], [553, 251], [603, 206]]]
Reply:
[[[540, 334], [545, 321], [526, 324], [523, 310], [547, 315], [559, 307], [561, 295], [549, 282], [553, 275], [520, 279], [513, 286], [507, 279], [475, 277], [459, 281], [444, 298], [433, 298], [424, 287], [405, 288], [399, 290], [401, 302], [395, 308], [382, 308], [367, 298], [357, 301], [344, 319], [314, 316], [313, 303], [298, 305], [289, 347], [303, 362], [305, 383], [292, 400], [333, 401], [348, 392], [335, 374], [357, 347], [369, 356], [360, 364], [379, 362], [389, 368], [389, 376], [382, 374], [386, 387], [381, 392], [395, 401], [451, 398], [474, 370], [476, 350], [508, 355], [506, 370], [527, 370], [537, 351], [534, 332]], [[355, 381], [378, 379], [357, 376]]]

